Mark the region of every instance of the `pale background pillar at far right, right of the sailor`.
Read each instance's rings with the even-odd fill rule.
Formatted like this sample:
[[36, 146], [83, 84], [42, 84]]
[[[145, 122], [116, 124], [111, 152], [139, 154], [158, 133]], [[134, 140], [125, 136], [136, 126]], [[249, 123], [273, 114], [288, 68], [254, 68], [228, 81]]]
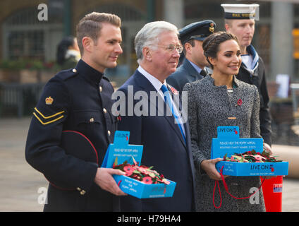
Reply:
[[[279, 73], [293, 80], [293, 4], [271, 3], [271, 80]], [[269, 80], [270, 80], [269, 79]]]

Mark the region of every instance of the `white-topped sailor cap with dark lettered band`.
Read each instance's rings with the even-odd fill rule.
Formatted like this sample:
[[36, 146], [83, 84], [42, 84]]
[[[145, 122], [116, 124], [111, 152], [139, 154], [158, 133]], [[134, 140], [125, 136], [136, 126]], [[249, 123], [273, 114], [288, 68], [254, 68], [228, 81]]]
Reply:
[[221, 4], [225, 19], [255, 19], [259, 4]]

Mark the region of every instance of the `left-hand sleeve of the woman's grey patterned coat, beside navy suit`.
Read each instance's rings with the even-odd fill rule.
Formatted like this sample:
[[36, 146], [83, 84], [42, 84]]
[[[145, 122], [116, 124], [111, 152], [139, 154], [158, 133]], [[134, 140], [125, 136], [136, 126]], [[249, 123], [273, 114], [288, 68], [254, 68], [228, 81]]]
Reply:
[[[197, 101], [198, 101], [198, 95], [194, 93], [193, 86], [190, 83], [187, 83], [183, 91], [188, 92], [188, 121], [190, 125], [190, 138], [191, 138], [191, 148], [193, 153], [193, 160], [195, 167], [197, 169], [200, 169], [200, 164], [203, 160], [209, 159], [209, 157], [205, 156], [204, 152], [200, 150], [200, 147], [198, 145], [199, 143], [199, 135], [198, 135], [198, 109], [197, 109]], [[200, 173], [202, 173], [202, 170], [199, 170]]]

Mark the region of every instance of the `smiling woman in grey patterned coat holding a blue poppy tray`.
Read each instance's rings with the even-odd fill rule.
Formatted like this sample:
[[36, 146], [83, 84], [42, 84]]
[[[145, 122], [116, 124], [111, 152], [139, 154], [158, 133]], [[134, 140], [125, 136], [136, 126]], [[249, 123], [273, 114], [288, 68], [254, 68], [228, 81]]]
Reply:
[[[249, 85], [234, 76], [240, 68], [240, 47], [235, 35], [216, 32], [203, 43], [205, 56], [213, 68], [212, 75], [188, 83], [188, 119], [196, 173], [197, 211], [264, 211], [262, 189], [251, 198], [237, 200], [226, 193], [220, 182], [222, 206], [213, 205], [215, 180], [221, 180], [211, 160], [212, 138], [217, 136], [217, 126], [239, 126], [241, 138], [261, 138], [260, 99], [255, 85]], [[242, 104], [238, 105], [238, 100]], [[260, 177], [226, 177], [228, 191], [236, 197], [246, 197], [260, 186]], [[215, 206], [221, 200], [215, 191]]]

